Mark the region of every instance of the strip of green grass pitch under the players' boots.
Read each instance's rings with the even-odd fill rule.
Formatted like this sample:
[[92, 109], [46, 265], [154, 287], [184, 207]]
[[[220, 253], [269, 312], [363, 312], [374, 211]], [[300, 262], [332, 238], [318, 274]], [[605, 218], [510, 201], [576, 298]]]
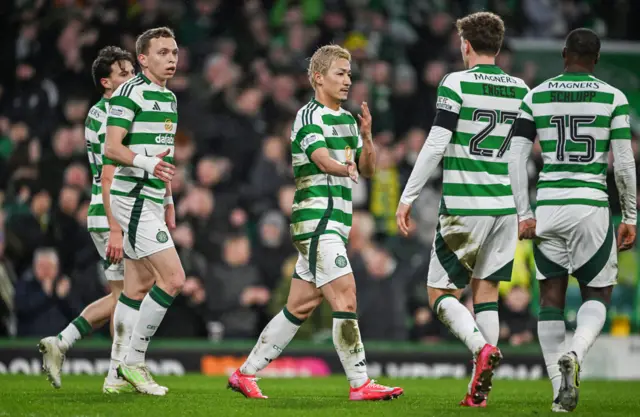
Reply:
[[[226, 379], [200, 375], [159, 377], [167, 385], [166, 397], [127, 393], [100, 393], [103, 379], [64, 376], [63, 386], [54, 390], [44, 376], [0, 376], [0, 417], [350, 417], [350, 416], [458, 416], [555, 415], [549, 411], [548, 381], [494, 381], [487, 409], [461, 409], [457, 404], [466, 388], [462, 380], [404, 379], [395, 383], [405, 388], [397, 400], [376, 403], [347, 401], [343, 377], [321, 379], [262, 379], [268, 400], [247, 400], [226, 389]], [[635, 415], [640, 407], [640, 382], [583, 381], [575, 415]]]

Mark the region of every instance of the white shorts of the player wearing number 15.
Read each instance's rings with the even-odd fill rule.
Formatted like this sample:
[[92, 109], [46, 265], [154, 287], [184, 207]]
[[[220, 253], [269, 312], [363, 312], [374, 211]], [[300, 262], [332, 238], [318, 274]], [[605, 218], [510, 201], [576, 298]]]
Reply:
[[542, 206], [536, 219], [539, 280], [573, 275], [589, 287], [616, 284], [618, 250], [608, 207]]

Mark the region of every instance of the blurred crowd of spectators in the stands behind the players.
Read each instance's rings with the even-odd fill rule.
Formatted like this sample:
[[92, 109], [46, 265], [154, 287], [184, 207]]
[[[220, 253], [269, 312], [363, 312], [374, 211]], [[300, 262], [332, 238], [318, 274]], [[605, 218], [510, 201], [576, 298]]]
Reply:
[[[307, 58], [336, 43], [353, 55], [345, 108], [367, 101], [378, 171], [354, 189], [349, 252], [366, 339], [437, 341], [446, 329], [424, 287], [440, 200], [440, 176], [414, 205], [415, 230], [398, 235], [395, 209], [430, 129], [438, 83], [462, 69], [455, 18], [498, 12], [508, 37], [559, 37], [589, 26], [640, 39], [638, 2], [617, 0], [14, 0], [0, 68], [0, 336], [61, 330], [106, 293], [86, 232], [91, 177], [84, 119], [99, 99], [91, 62], [109, 44], [175, 29], [180, 46], [168, 87], [178, 98], [173, 239], [187, 282], [157, 336], [253, 338], [286, 301], [296, 259], [289, 238], [295, 192], [289, 135], [312, 96]], [[605, 7], [607, 6], [607, 7]], [[5, 10], [3, 10], [3, 8]], [[635, 8], [635, 9], [634, 9]], [[8, 13], [4, 13], [7, 11]], [[514, 68], [507, 39], [498, 64]], [[635, 144], [635, 141], [634, 141]], [[532, 190], [540, 150], [531, 162]], [[640, 178], [640, 177], [639, 177]], [[613, 185], [613, 180], [610, 181]], [[614, 187], [615, 189], [615, 187]], [[619, 212], [617, 194], [612, 210]], [[529, 309], [530, 248], [519, 247], [514, 282], [502, 289], [502, 338], [535, 337]], [[323, 305], [301, 331], [330, 338]], [[326, 330], [329, 329], [327, 332]], [[100, 331], [108, 335], [108, 329]]]

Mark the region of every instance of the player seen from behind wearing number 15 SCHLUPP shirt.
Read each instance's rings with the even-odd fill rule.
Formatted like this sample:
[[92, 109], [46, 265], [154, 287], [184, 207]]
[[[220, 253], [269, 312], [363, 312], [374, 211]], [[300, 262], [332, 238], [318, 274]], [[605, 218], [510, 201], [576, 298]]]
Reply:
[[[538, 338], [553, 386], [551, 408], [557, 412], [573, 411], [578, 404], [580, 364], [607, 318], [618, 251], [631, 248], [636, 239], [629, 104], [620, 90], [593, 76], [599, 55], [600, 39], [593, 31], [569, 33], [562, 51], [564, 72], [531, 90], [522, 102], [509, 158], [518, 234], [534, 240]], [[534, 216], [526, 166], [536, 136], [544, 166]], [[607, 194], [609, 150], [622, 209], [617, 240]], [[569, 275], [578, 280], [583, 303], [573, 339], [565, 346]]]

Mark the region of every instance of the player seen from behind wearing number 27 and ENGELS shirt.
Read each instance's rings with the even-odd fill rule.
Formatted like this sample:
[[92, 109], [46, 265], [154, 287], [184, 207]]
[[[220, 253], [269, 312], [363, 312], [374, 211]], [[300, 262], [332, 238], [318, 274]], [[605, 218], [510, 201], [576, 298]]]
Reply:
[[[442, 200], [428, 273], [429, 303], [474, 356], [463, 406], [484, 407], [501, 359], [498, 285], [509, 281], [518, 222], [509, 185], [509, 131], [529, 89], [495, 65], [504, 23], [480, 12], [456, 23], [465, 71], [438, 87], [429, 137], [400, 199], [396, 218], [409, 232], [411, 204], [443, 159]], [[459, 301], [471, 282], [476, 318]]]

